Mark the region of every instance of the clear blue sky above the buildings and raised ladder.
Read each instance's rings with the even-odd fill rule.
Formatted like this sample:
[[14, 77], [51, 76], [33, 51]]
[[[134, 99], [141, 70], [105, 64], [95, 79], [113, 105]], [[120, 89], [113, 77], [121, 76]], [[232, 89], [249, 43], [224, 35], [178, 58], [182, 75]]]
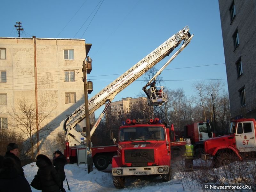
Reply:
[[[189, 97], [194, 94], [195, 80], [224, 79], [227, 90], [217, 0], [9, 0], [1, 3], [0, 12], [4, 15], [0, 36], [17, 37], [14, 25], [20, 21], [21, 37], [83, 38], [91, 43], [93, 70], [88, 79], [94, 90], [89, 98], [186, 25], [195, 36], [161, 73], [163, 85], [183, 88]], [[164, 61], [156, 68], [162, 65]], [[146, 84], [142, 80], [133, 82], [113, 101], [136, 97]]]

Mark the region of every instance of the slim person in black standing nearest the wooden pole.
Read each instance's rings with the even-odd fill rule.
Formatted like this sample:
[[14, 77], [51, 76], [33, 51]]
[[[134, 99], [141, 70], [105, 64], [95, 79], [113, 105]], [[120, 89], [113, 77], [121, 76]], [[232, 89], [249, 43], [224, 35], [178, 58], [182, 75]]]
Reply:
[[63, 188], [63, 182], [65, 180], [65, 172], [64, 172], [64, 166], [67, 163], [66, 157], [62, 154], [60, 150], [57, 150], [54, 152], [54, 158], [53, 158], [53, 165], [55, 166], [55, 169], [60, 175], [61, 185], [60, 185], [60, 191], [66, 192], [66, 190]]

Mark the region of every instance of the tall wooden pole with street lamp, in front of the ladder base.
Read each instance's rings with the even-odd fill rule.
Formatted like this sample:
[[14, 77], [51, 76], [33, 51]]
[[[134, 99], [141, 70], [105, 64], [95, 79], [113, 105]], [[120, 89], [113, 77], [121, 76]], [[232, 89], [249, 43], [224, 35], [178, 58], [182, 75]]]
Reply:
[[[92, 150], [91, 150], [91, 133], [90, 133], [90, 120], [89, 120], [89, 107], [88, 107], [88, 88], [87, 88], [87, 66], [92, 63], [92, 59], [87, 56], [83, 62], [83, 75], [84, 75], [84, 108], [85, 108], [85, 123], [86, 123], [86, 143], [87, 143], [87, 169], [90, 173], [92, 169]], [[91, 71], [90, 71], [91, 72]], [[88, 71], [88, 73], [90, 73]]]

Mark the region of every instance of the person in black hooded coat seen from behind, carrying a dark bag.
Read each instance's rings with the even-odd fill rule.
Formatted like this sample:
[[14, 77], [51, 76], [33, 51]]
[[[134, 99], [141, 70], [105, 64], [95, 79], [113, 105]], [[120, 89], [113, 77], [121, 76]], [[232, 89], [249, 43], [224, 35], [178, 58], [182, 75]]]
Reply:
[[42, 192], [59, 192], [61, 180], [52, 161], [47, 156], [40, 154], [36, 157], [36, 165]]

